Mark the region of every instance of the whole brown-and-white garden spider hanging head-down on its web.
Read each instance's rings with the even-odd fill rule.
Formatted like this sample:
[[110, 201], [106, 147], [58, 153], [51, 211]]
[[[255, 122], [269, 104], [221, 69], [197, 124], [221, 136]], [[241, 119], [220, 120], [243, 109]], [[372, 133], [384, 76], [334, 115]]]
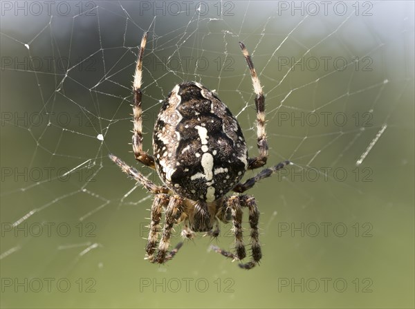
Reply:
[[[249, 210], [252, 256], [243, 269], [255, 267], [261, 260], [259, 244], [259, 210], [254, 196], [242, 194], [255, 183], [291, 164], [284, 161], [263, 169], [245, 182], [241, 179], [248, 169], [266, 164], [268, 145], [265, 131], [265, 98], [254, 65], [245, 46], [239, 42], [254, 86], [257, 109], [257, 147], [259, 156], [248, 157], [248, 149], [237, 119], [212, 91], [198, 82], [182, 82], [174, 86], [164, 100], [154, 126], [154, 156], [142, 150], [142, 58], [147, 32], [142, 37], [133, 79], [133, 153], [139, 162], [157, 171], [163, 185], [155, 185], [137, 169], [110, 154], [109, 157], [149, 192], [155, 194], [151, 206], [151, 223], [145, 247], [146, 259], [151, 263], [171, 260], [183, 242], [169, 251], [173, 226], [183, 223], [181, 235], [192, 239], [196, 232], [219, 236], [219, 221], [232, 221], [235, 253], [212, 249], [232, 260], [246, 257], [243, 243], [242, 209]], [[229, 191], [237, 195], [226, 196]], [[165, 223], [161, 232], [162, 209]]]

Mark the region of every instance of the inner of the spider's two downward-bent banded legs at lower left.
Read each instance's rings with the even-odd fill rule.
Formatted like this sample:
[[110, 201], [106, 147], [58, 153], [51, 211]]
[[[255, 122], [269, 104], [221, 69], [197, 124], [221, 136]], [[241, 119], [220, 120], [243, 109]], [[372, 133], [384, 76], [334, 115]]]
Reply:
[[178, 252], [183, 243], [178, 245], [171, 252], [167, 252], [170, 245], [170, 238], [172, 237], [173, 225], [177, 223], [183, 213], [183, 200], [180, 196], [170, 196], [169, 204], [165, 212], [165, 225], [163, 227], [163, 233], [161, 235], [160, 244], [158, 245], [157, 256], [153, 263], [164, 263], [173, 258]]

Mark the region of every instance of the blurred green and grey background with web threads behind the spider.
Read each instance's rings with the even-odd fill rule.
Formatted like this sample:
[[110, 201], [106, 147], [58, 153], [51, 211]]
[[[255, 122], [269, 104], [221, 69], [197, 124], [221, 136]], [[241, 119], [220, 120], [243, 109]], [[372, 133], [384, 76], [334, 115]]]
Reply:
[[[412, 1], [36, 3], [1, 2], [2, 308], [414, 308]], [[158, 181], [128, 144], [146, 30], [145, 149], [160, 100], [196, 80], [255, 156], [238, 41], [252, 54], [268, 165], [294, 165], [250, 190], [264, 258], [249, 272], [202, 235], [143, 259], [151, 196], [107, 155]]]

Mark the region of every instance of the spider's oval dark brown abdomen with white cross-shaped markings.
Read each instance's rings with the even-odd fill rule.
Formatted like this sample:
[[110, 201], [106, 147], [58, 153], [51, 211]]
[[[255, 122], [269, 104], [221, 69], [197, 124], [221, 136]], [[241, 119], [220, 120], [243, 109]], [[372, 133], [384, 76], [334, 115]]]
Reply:
[[153, 134], [158, 175], [191, 200], [213, 202], [245, 173], [248, 151], [237, 119], [197, 82], [174, 87], [163, 102]]

